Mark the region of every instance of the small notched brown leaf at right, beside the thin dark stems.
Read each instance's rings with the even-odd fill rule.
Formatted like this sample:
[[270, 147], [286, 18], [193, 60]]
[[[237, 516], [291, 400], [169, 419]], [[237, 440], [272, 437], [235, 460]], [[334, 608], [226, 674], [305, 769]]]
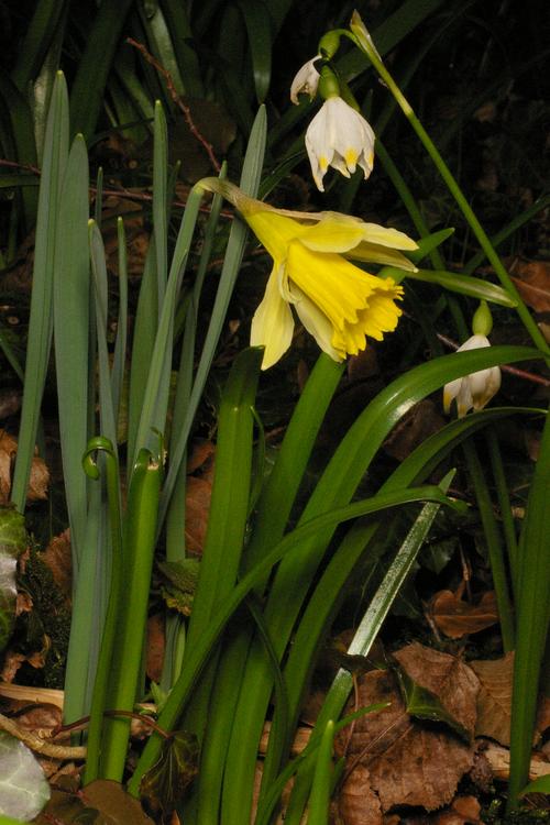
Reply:
[[498, 622], [494, 591], [484, 593], [477, 605], [463, 602], [450, 590], [436, 593], [430, 614], [439, 630], [451, 639], [461, 639]]

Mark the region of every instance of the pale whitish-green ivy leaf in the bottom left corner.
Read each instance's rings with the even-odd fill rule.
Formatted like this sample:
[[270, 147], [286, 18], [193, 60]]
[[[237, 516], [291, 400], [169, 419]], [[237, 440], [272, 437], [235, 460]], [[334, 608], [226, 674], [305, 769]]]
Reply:
[[33, 820], [50, 799], [50, 785], [26, 745], [0, 732], [0, 814]]

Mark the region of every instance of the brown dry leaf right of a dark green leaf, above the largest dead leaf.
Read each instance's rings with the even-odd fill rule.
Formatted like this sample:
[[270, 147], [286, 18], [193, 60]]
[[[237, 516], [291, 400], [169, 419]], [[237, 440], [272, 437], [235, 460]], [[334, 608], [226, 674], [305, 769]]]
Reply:
[[473, 737], [480, 683], [471, 668], [454, 656], [416, 641], [396, 651], [394, 658], [410, 679], [433, 693], [450, 716]]

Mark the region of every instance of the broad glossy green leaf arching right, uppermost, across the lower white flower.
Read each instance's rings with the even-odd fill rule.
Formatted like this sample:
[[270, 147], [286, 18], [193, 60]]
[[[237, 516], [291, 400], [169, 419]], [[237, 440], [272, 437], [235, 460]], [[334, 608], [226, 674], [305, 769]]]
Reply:
[[[485, 349], [493, 354], [488, 356], [476, 350], [446, 355], [421, 364], [380, 393], [341, 441], [301, 514], [300, 524], [350, 501], [378, 447], [392, 427], [415, 403], [443, 386], [452, 377], [480, 369], [477, 365], [485, 363], [486, 359], [493, 361], [496, 358], [499, 362], [504, 356], [508, 361], [508, 355], [504, 355], [504, 351], [507, 350], [510, 356], [514, 351], [513, 348]], [[520, 349], [517, 348], [516, 352]], [[537, 350], [522, 351], [525, 354], [537, 353], [540, 358]], [[468, 362], [463, 359], [464, 355], [470, 356]], [[466, 363], [469, 369], [463, 372]], [[279, 657], [285, 652], [294, 624], [331, 537], [332, 530], [317, 537], [315, 542], [305, 544], [299, 553], [285, 559], [277, 570], [270, 588], [264, 617]], [[251, 802], [255, 752], [271, 692], [271, 669], [263, 646], [255, 639], [249, 652], [241, 700], [234, 713], [230, 749], [238, 754], [239, 758], [228, 762], [226, 769], [224, 799], [227, 794], [228, 822], [238, 818], [238, 810], [242, 815]]]

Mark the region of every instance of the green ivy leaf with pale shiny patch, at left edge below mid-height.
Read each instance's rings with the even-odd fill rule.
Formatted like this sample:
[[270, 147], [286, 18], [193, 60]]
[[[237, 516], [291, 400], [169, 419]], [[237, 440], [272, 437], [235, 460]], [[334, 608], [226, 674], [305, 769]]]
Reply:
[[8, 644], [15, 618], [15, 569], [26, 548], [24, 518], [11, 507], [0, 507], [0, 650]]

